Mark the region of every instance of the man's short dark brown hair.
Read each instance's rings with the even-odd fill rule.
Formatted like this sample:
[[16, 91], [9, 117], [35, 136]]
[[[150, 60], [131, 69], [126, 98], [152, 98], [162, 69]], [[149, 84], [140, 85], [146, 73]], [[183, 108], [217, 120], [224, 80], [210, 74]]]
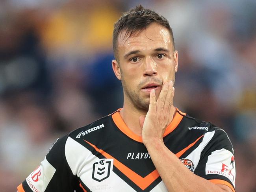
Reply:
[[153, 22], [156, 22], [167, 28], [171, 35], [174, 48], [173, 30], [170, 27], [168, 20], [155, 11], [145, 9], [143, 6], [139, 5], [134, 9], [130, 9], [128, 12], [124, 13], [114, 24], [113, 51], [115, 58], [117, 59], [117, 39], [121, 31], [126, 30], [125, 37], [128, 39], [133, 33], [146, 29], [147, 26]]

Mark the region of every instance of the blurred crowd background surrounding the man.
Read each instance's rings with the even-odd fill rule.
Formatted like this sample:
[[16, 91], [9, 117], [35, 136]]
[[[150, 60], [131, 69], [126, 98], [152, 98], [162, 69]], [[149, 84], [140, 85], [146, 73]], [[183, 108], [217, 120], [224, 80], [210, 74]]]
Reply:
[[113, 23], [141, 3], [174, 31], [174, 103], [230, 136], [237, 192], [256, 182], [255, 0], [0, 0], [0, 190], [16, 191], [56, 138], [122, 107]]

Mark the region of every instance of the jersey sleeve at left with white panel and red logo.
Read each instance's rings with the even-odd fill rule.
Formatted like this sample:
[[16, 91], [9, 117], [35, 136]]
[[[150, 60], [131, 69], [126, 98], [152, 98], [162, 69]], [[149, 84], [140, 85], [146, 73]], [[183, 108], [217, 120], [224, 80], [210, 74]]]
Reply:
[[67, 136], [57, 139], [41, 164], [17, 187], [18, 192], [81, 191], [65, 158], [66, 140]]

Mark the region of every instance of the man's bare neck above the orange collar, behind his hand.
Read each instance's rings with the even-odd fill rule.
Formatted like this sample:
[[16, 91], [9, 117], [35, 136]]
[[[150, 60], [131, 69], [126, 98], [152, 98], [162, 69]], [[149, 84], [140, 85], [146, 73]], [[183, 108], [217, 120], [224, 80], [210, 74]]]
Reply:
[[[139, 116], [147, 114], [148, 111], [142, 110], [142, 109], [137, 109], [134, 107], [132, 104], [128, 104], [124, 102], [124, 106], [120, 111], [120, 115], [122, 119], [124, 120], [125, 124], [129, 129], [135, 133], [136, 135], [141, 136], [142, 129], [139, 125]], [[171, 120], [173, 119], [174, 115], [176, 114], [176, 108], [172, 106], [170, 116], [172, 117]], [[171, 123], [168, 122], [168, 125]]]

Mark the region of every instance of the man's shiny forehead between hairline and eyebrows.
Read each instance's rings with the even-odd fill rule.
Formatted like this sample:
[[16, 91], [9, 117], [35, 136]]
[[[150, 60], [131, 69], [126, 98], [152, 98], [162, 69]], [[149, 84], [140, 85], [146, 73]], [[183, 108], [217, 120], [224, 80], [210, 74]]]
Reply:
[[117, 49], [119, 54], [125, 54], [131, 50], [154, 50], [162, 47], [172, 50], [171, 35], [167, 28], [157, 23], [150, 24], [145, 30], [135, 32], [131, 37], [125, 37], [126, 31], [122, 31], [118, 37]]

